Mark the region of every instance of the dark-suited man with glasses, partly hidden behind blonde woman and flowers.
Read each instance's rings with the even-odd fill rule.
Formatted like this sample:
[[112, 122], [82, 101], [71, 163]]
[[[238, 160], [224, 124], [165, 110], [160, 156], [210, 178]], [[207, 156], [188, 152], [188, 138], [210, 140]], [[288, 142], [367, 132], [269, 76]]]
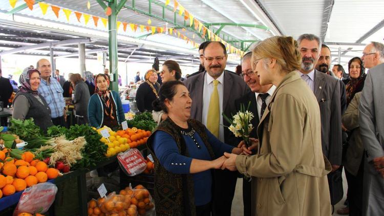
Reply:
[[[261, 116], [263, 115], [263, 107], [267, 107], [270, 98], [273, 95], [276, 87], [272, 84], [261, 85], [259, 76], [255, 75], [252, 70], [252, 52], [246, 53], [241, 59], [241, 74], [240, 76], [244, 79], [244, 82], [247, 83], [248, 87], [251, 89], [251, 92], [244, 95], [243, 97], [234, 101], [236, 104], [236, 112], [240, 111], [240, 106], [243, 104], [245, 107], [249, 105], [249, 111], [253, 113], [254, 117], [251, 120], [253, 129], [249, 134], [249, 137], [258, 138], [257, 128]], [[263, 95], [265, 97], [263, 97]], [[263, 105], [264, 104], [264, 105]], [[256, 146], [251, 146], [248, 149], [253, 150]], [[243, 180], [243, 203], [244, 203], [244, 216], [251, 215], [251, 182], [244, 179]], [[253, 202], [254, 203], [254, 202]]]

